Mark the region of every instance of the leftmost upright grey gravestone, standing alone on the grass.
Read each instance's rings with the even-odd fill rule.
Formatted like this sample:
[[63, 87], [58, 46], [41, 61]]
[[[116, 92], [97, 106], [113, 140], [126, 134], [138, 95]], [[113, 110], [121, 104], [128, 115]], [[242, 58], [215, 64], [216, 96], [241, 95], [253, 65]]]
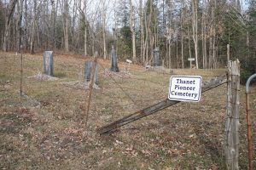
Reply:
[[53, 51], [44, 52], [44, 74], [53, 77]]

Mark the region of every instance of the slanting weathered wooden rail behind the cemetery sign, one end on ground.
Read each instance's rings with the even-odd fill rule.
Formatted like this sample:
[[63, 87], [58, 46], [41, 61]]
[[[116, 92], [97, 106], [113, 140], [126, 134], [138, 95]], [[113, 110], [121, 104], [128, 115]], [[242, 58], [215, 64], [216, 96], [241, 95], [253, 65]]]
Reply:
[[[217, 88], [218, 86], [224, 84], [225, 82], [227, 82], [227, 77], [225, 75], [220, 76], [220, 77], [214, 77], [208, 82], [203, 82], [201, 93], [207, 92], [208, 90], [211, 90], [212, 88]], [[170, 99], [162, 100], [159, 103], [150, 105], [141, 111], [137, 111], [135, 113], [132, 113], [129, 116], [125, 116], [125, 117], [123, 117], [115, 122], [112, 122], [104, 127], [100, 127], [97, 129], [97, 132], [100, 134], [108, 133], [115, 128], [122, 127], [125, 124], [128, 124], [130, 122], [135, 122], [138, 119], [143, 118], [144, 116], [152, 115], [157, 111], [161, 111], [163, 109], [166, 109], [167, 107], [176, 105], [179, 102], [180, 101], [175, 101], [175, 100], [170, 100]]]

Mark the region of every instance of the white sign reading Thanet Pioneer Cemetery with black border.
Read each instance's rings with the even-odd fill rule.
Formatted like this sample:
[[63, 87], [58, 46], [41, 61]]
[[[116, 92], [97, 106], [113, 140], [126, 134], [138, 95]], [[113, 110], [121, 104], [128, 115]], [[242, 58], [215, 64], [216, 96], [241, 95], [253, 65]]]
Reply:
[[168, 99], [178, 101], [195, 101], [201, 98], [201, 77], [173, 76], [170, 79]]

